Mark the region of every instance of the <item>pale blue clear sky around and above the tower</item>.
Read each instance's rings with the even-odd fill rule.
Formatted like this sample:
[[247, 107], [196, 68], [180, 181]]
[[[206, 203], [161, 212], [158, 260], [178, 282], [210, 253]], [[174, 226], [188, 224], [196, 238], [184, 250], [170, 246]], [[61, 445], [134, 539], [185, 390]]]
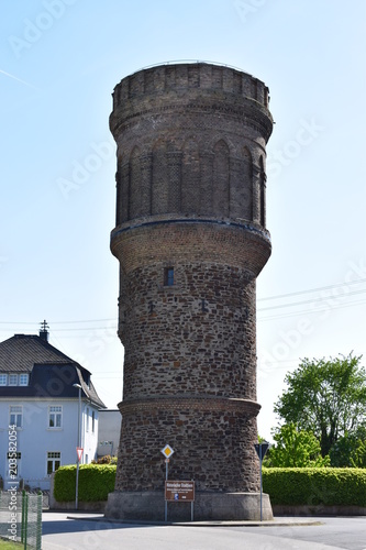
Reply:
[[364, 0], [1, 2], [0, 339], [46, 319], [104, 403], [121, 400], [111, 94], [142, 67], [197, 59], [264, 80], [276, 121], [260, 435], [299, 359], [366, 356], [365, 22]]

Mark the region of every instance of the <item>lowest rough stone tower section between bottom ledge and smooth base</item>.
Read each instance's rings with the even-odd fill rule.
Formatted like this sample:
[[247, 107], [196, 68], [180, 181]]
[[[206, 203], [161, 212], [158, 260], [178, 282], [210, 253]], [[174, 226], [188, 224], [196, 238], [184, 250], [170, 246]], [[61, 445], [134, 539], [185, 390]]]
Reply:
[[[246, 404], [220, 399], [145, 400], [121, 404], [123, 428], [117, 491], [162, 491], [166, 442], [175, 450], [170, 480], [195, 480], [196, 490], [257, 492], [255, 415]], [[143, 460], [142, 460], [143, 452]]]

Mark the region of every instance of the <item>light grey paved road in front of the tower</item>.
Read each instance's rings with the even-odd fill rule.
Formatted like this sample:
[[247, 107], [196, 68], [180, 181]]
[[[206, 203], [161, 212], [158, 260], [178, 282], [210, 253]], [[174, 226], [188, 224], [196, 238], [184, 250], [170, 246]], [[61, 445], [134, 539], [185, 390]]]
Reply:
[[[322, 525], [191, 527], [109, 524], [43, 515], [43, 550], [366, 550], [366, 516]], [[90, 516], [92, 517], [92, 516]], [[282, 518], [285, 519], [285, 518]]]

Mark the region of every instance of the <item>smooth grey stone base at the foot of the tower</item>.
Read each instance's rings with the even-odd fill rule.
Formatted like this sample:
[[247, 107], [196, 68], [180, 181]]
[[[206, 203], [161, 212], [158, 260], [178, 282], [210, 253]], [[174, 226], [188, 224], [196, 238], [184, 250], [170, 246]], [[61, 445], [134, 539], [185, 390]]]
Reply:
[[[168, 521], [190, 521], [190, 503], [167, 503]], [[111, 519], [143, 519], [164, 521], [165, 501], [163, 491], [122, 492], [108, 495], [106, 517]], [[274, 518], [269, 495], [262, 495], [262, 518]], [[259, 493], [196, 493], [193, 520], [259, 520]]]

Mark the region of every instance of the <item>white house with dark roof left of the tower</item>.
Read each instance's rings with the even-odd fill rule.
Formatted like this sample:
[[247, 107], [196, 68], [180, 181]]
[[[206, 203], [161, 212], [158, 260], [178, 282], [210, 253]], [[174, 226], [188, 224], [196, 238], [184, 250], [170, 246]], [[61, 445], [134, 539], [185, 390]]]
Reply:
[[[49, 488], [60, 465], [97, 458], [99, 410], [90, 372], [48, 343], [48, 332], [0, 343], [0, 477]], [[80, 429], [80, 433], [79, 433]]]

